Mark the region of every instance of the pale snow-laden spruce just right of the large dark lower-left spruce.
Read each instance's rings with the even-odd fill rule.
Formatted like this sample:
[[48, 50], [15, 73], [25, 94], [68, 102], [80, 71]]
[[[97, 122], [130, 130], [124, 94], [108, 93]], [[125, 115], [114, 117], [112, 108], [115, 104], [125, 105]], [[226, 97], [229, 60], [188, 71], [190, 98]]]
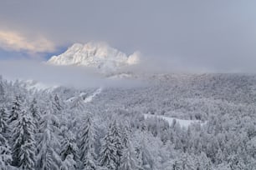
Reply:
[[61, 166], [59, 138], [54, 134], [53, 115], [47, 111], [40, 122], [36, 169], [58, 170]]

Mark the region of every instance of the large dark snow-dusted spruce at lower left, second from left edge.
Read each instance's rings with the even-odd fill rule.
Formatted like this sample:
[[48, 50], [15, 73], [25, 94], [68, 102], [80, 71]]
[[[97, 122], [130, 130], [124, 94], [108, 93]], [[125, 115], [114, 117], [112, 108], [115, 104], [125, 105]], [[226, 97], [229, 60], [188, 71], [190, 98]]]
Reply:
[[13, 125], [13, 165], [24, 170], [33, 170], [35, 163], [33, 118], [23, 110]]

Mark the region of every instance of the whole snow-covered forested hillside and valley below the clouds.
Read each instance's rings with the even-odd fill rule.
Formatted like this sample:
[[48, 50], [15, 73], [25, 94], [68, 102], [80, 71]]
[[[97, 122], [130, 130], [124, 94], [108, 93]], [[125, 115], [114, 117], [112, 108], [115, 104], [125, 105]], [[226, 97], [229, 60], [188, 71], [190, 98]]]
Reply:
[[138, 87], [36, 91], [1, 77], [0, 169], [256, 169], [254, 75], [145, 79]]

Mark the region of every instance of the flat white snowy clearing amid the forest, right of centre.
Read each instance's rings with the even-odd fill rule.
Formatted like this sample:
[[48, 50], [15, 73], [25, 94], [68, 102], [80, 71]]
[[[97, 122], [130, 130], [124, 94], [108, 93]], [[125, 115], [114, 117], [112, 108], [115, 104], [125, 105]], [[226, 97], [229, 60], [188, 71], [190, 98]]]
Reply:
[[173, 120], [176, 120], [181, 127], [188, 128], [192, 123], [200, 123], [201, 125], [205, 124], [206, 122], [198, 121], [198, 120], [182, 120], [178, 118], [173, 118], [173, 117], [165, 117], [161, 115], [151, 115], [151, 114], [144, 114], [145, 118], [151, 118], [151, 117], [156, 117], [165, 120], [166, 122], [169, 123], [169, 125], [172, 125]]

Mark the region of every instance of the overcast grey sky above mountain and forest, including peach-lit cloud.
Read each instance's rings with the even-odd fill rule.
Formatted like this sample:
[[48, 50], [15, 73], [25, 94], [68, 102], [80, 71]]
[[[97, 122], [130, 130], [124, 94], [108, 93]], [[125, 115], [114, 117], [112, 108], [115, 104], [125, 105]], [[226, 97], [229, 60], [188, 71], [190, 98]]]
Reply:
[[255, 7], [254, 0], [0, 0], [0, 59], [42, 60], [100, 40], [140, 50], [158, 67], [256, 72]]

